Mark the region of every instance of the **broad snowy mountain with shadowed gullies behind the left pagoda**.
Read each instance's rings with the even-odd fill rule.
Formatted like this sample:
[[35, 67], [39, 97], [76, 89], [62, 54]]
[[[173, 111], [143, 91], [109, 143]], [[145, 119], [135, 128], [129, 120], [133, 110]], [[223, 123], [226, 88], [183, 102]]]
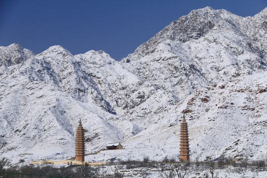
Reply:
[[1, 68], [1, 141], [18, 152], [72, 153], [79, 119], [88, 151], [123, 141], [145, 125], [124, 113], [158, 92], [103, 51], [73, 56], [51, 46], [22, 64]]

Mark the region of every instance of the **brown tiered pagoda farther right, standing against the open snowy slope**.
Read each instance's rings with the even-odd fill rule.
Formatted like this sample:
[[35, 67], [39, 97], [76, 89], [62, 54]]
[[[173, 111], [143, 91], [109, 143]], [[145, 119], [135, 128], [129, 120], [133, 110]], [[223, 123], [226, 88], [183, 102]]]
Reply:
[[181, 133], [180, 133], [180, 160], [182, 162], [189, 161], [189, 139], [187, 122], [185, 121], [184, 113], [181, 122]]

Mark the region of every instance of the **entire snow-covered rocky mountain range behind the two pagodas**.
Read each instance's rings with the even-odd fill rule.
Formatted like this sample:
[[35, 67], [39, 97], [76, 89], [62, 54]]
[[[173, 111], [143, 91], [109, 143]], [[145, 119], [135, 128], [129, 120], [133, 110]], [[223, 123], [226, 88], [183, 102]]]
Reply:
[[192, 159], [259, 159], [267, 150], [266, 41], [267, 8], [239, 17], [205, 7], [121, 61], [103, 51], [72, 55], [59, 45], [37, 55], [0, 46], [5, 155], [73, 156], [79, 119], [88, 152], [120, 141], [136, 155], [133, 145], [149, 140], [140, 155], [177, 155], [184, 110]]

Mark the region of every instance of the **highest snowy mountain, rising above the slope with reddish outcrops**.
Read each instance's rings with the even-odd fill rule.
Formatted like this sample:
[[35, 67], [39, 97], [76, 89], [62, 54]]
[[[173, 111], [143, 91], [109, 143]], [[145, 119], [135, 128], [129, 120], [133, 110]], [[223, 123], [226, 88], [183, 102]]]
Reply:
[[[207, 84], [266, 71], [266, 16], [267, 9], [247, 18], [210, 7], [193, 10], [122, 62], [141, 79], [182, 99]], [[256, 27], [259, 21], [262, 25]]]

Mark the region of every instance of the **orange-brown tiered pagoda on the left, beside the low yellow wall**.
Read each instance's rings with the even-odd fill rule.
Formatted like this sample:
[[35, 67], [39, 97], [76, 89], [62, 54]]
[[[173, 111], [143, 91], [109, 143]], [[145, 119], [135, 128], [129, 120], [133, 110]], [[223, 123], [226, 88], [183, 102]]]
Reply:
[[81, 119], [79, 121], [79, 126], [76, 130], [76, 161], [85, 161], [85, 131], [82, 126]]

